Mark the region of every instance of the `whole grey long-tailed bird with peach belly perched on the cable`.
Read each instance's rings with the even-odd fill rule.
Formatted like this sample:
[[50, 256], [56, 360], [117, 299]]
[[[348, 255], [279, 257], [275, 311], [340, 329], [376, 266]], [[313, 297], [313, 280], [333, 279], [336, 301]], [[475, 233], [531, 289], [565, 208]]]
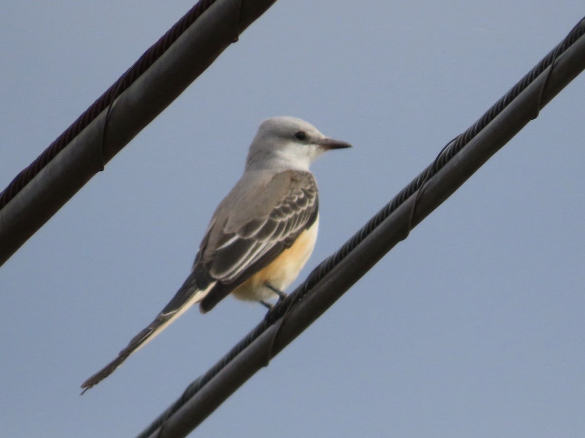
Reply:
[[108, 377], [195, 303], [205, 313], [230, 293], [263, 304], [283, 296], [317, 238], [319, 202], [309, 164], [327, 150], [347, 147], [349, 143], [327, 138], [301, 119], [264, 120], [242, 178], [216, 208], [183, 286], [116, 359], [81, 387]]

